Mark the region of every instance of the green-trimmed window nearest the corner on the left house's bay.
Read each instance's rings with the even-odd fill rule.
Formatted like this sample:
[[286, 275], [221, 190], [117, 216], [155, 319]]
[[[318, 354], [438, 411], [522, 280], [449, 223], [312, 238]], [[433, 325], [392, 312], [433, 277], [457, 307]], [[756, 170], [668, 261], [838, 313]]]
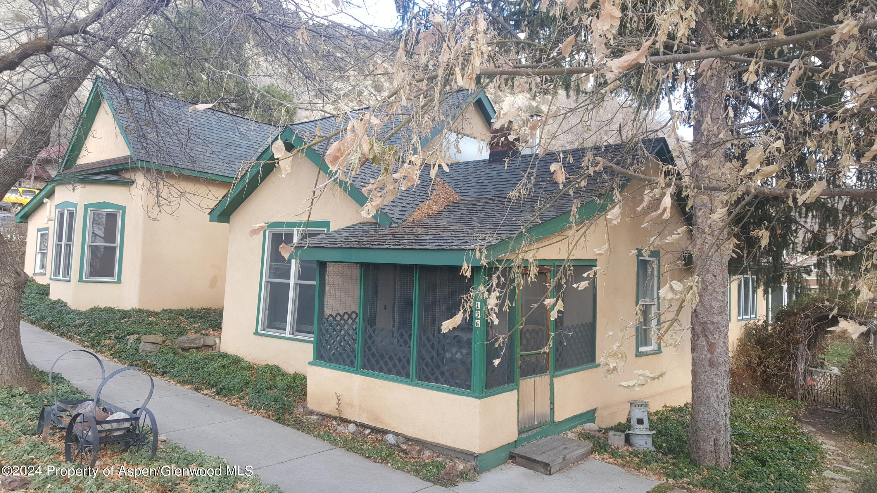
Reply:
[[85, 266], [82, 278], [89, 281], [118, 280], [118, 246], [122, 211], [89, 209], [85, 230]]

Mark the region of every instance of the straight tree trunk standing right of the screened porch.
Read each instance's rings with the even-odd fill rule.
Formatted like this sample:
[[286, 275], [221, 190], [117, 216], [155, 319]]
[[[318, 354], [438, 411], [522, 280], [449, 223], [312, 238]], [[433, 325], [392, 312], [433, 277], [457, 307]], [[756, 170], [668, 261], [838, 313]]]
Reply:
[[[702, 46], [710, 46], [713, 25], [698, 26]], [[709, 68], [706, 64], [709, 63]], [[725, 116], [727, 65], [702, 61], [698, 68], [695, 101], [694, 160], [691, 175], [709, 180], [724, 167], [722, 132]], [[693, 204], [694, 266], [700, 276], [700, 302], [691, 312], [691, 460], [700, 466], [731, 466], [731, 356], [728, 345], [728, 261], [730, 251], [724, 224], [713, 219], [723, 207], [718, 194], [701, 192]]]

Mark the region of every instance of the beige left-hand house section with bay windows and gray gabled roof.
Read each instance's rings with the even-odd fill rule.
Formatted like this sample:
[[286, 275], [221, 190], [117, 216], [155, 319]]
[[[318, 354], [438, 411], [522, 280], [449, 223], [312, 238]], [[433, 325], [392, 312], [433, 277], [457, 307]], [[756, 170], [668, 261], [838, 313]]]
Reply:
[[228, 225], [207, 214], [272, 126], [98, 79], [57, 175], [16, 215], [25, 271], [76, 309], [221, 307]]

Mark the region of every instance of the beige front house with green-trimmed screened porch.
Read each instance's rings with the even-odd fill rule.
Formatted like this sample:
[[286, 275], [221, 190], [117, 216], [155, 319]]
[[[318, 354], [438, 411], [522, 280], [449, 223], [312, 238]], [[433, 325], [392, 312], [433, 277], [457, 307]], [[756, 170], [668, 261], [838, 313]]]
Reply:
[[[461, 91], [448, 101], [447, 121], [406, 131], [412, 152], [464, 137], [485, 139], [470, 150], [488, 146], [486, 98]], [[282, 140], [289, 152], [345, 126], [289, 125]], [[629, 399], [653, 409], [688, 402], [688, 338], [665, 350], [653, 328], [661, 308], [672, 311], [659, 289], [685, 274], [688, 233], [662, 258], [643, 249], [654, 232], [641, 227], [641, 187], [602, 170], [569, 192], [550, 170], [563, 162], [578, 175], [600, 157], [657, 174], [672, 162], [664, 139], [481, 155], [434, 177], [425, 166], [416, 186], [366, 218], [380, 170], [366, 162], [350, 182], [330, 180], [322, 152], [331, 142], [291, 158], [267, 149], [211, 212], [230, 225], [224, 351], [305, 373], [311, 411], [402, 434], [481, 471], [531, 440], [614, 425]], [[590, 221], [612, 206], [614, 183], [633, 197], [620, 222]], [[511, 199], [522, 184], [526, 193]], [[674, 205], [668, 229], [684, 220]], [[568, 237], [573, 228], [583, 237]], [[645, 322], [631, 328], [638, 314]], [[681, 325], [689, 319], [681, 311]], [[606, 380], [599, 358], [616, 343], [629, 358]], [[619, 386], [634, 370], [664, 378]]]

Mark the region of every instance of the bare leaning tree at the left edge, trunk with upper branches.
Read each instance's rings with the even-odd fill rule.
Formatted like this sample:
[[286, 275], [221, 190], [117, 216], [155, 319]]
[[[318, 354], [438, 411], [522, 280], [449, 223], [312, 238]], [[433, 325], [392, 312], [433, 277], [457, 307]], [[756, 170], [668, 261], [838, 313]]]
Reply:
[[[7, 67], [17, 68], [23, 63], [35, 61], [26, 67], [25, 77], [7, 78], [4, 92], [11, 93], [11, 103], [20, 103], [22, 94], [45, 84], [46, 89], [40, 91], [36, 103], [25, 106], [25, 110], [16, 114], [16, 123], [21, 125], [15, 141], [9, 147], [7, 154], [0, 158], [0, 189], [10, 189], [16, 180], [24, 175], [25, 169], [31, 165], [39, 151], [45, 149], [52, 138], [53, 128], [58, 125], [59, 119], [68, 107], [68, 102], [75, 95], [91, 71], [101, 66], [100, 60], [116, 45], [124, 39], [132, 29], [139, 24], [142, 18], [153, 12], [160, 4], [153, 0], [128, 0], [104, 4], [99, 9], [100, 15], [89, 14], [78, 21], [68, 22], [73, 18], [73, 8], [69, 11], [57, 12], [46, 5], [47, 11], [40, 12], [41, 18], [50, 20], [48, 28], [34, 27], [31, 31], [36, 33], [39, 29], [46, 29], [44, 39], [59, 39], [60, 34], [78, 38], [78, 42], [57, 42], [53, 44], [63, 46], [66, 52], [61, 56], [53, 56], [49, 61], [32, 58], [40, 54], [38, 50], [27, 47], [32, 46], [32, 40], [21, 42], [11, 52], [10, 59], [15, 59], [18, 64], [10, 63]], [[50, 15], [51, 11], [51, 15]], [[57, 24], [55, 24], [57, 23]], [[69, 32], [69, 25], [75, 25], [77, 31]], [[7, 32], [17, 32], [20, 26], [5, 26]], [[40, 39], [39, 37], [36, 39]], [[24, 47], [23, 47], [24, 46]], [[53, 46], [53, 45], [46, 45]], [[51, 48], [47, 47], [44, 54], [49, 54]], [[22, 54], [28, 54], [24, 56]], [[36, 75], [34, 75], [36, 74]], [[15, 87], [13, 84], [21, 84]], [[10, 105], [4, 105], [5, 111], [9, 111]], [[22, 266], [24, 265], [24, 248], [26, 234], [20, 232], [0, 234], [0, 387], [26, 387], [39, 389], [39, 383], [31, 375], [30, 368], [25, 360], [24, 350], [21, 346], [19, 332], [21, 296], [27, 282], [27, 275]]]

